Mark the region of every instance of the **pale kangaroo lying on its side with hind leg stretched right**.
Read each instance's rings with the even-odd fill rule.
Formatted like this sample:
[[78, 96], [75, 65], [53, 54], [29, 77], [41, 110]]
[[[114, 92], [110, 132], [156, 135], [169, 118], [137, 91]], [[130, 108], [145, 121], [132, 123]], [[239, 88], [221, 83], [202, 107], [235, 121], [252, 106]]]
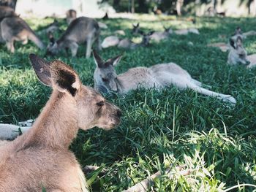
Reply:
[[94, 51], [94, 61], [97, 66], [94, 71], [95, 89], [105, 93], [110, 91], [127, 93], [140, 86], [143, 88], [159, 89], [175, 85], [177, 88], [190, 88], [197, 93], [217, 97], [217, 99], [236, 104], [236, 99], [233, 96], [203, 88], [201, 82], [193, 79], [187, 71], [173, 63], [157, 64], [151, 67], [140, 66], [117, 75], [114, 66], [118, 64], [120, 59], [121, 55], [110, 58], [108, 61], [103, 61], [97, 52]]

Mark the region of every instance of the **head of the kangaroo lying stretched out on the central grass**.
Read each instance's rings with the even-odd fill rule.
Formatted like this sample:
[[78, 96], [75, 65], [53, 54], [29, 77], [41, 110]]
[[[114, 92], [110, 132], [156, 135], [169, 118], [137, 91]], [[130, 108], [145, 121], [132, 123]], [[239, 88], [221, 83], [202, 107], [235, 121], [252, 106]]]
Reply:
[[102, 93], [118, 91], [116, 85], [117, 74], [114, 66], [121, 60], [121, 55], [103, 61], [95, 50], [93, 53], [96, 64], [94, 71], [94, 88]]

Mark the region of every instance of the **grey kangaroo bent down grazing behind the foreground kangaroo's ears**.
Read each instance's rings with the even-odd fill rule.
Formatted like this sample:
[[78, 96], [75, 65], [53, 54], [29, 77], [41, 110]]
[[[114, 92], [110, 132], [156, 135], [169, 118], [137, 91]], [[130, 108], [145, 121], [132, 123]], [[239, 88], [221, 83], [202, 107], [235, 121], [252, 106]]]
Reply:
[[[55, 41], [50, 39], [47, 53], [55, 55], [60, 50], [70, 49], [72, 57], [78, 53], [78, 44], [86, 42], [86, 58], [91, 55], [91, 46], [97, 41], [97, 48], [101, 50], [99, 40], [100, 29], [96, 20], [92, 18], [80, 17], [72, 21], [64, 34]], [[54, 43], [53, 43], [54, 42]]]

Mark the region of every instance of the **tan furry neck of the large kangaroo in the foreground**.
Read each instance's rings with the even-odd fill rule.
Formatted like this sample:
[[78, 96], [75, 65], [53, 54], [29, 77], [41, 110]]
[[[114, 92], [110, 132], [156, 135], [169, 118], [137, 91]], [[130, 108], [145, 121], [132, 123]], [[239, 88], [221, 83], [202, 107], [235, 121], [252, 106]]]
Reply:
[[18, 137], [23, 147], [50, 147], [68, 149], [78, 133], [76, 101], [67, 93], [53, 91], [49, 101], [32, 128]]

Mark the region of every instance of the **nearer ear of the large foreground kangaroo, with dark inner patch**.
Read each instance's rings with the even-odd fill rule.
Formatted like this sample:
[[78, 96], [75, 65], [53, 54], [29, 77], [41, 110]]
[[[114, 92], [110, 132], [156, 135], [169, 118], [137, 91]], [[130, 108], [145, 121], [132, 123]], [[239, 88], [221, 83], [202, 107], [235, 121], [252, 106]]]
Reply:
[[75, 96], [81, 87], [78, 74], [62, 61], [55, 60], [51, 62], [50, 74], [53, 81], [53, 89], [56, 88], [60, 92], [67, 92]]

